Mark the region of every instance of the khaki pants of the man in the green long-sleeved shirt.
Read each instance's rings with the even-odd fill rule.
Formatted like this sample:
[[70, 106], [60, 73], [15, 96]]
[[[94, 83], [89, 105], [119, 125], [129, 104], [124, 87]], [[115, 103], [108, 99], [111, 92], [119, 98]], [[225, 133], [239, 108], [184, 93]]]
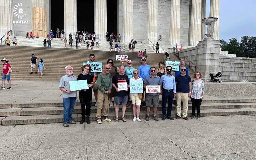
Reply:
[[102, 106], [103, 106], [103, 116], [108, 116], [108, 107], [109, 107], [108, 94], [98, 91], [98, 109], [96, 113], [97, 118], [101, 117]]

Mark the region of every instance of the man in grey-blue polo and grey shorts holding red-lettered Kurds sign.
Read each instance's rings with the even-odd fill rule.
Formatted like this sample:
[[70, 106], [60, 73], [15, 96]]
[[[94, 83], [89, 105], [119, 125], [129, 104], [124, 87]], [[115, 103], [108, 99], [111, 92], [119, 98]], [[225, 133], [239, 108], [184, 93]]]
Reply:
[[146, 89], [146, 106], [147, 115], [146, 120], [149, 121], [150, 106], [153, 105], [153, 119], [158, 121], [157, 106], [159, 104], [158, 95], [160, 94], [160, 77], [156, 75], [156, 68], [150, 67], [150, 76], [144, 80], [144, 88]]

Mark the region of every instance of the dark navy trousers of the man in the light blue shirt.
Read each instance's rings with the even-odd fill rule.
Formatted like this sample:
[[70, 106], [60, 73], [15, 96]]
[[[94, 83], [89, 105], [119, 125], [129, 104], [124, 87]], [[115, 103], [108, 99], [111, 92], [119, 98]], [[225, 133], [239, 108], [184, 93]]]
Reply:
[[172, 104], [173, 104], [173, 91], [168, 92], [163, 89], [163, 116], [166, 116], [166, 103], [168, 99], [168, 109], [167, 109], [167, 116], [171, 116], [171, 111], [172, 111]]

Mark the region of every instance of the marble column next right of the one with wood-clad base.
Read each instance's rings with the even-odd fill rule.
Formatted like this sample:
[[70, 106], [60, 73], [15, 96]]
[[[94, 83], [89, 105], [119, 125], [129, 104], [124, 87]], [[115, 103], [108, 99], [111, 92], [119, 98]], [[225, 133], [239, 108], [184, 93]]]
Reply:
[[64, 32], [67, 39], [69, 33], [72, 33], [74, 39], [77, 32], [77, 0], [64, 0]]

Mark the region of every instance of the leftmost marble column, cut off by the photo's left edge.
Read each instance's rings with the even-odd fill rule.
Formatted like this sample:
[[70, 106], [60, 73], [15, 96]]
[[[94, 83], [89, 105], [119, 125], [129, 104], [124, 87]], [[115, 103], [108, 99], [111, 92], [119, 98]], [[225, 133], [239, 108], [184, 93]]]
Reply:
[[0, 0], [0, 35], [5, 35], [11, 29], [13, 30], [12, 0]]

